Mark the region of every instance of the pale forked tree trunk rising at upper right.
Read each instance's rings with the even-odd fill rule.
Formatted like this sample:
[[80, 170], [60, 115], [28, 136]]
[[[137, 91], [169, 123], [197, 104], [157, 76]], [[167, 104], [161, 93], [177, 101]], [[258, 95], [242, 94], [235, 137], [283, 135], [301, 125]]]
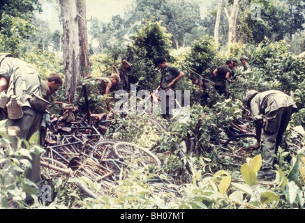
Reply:
[[231, 45], [237, 42], [236, 25], [237, 25], [238, 10], [239, 10], [239, 0], [234, 0], [230, 15], [228, 13], [228, 10], [225, 8], [225, 14], [228, 17], [228, 22], [229, 22], [229, 38], [228, 38], [229, 50]]

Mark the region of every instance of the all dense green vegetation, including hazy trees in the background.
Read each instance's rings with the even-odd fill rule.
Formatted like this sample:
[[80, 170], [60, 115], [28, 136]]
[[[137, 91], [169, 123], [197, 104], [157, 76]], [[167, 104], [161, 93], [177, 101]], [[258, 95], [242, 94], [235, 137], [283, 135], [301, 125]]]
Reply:
[[[28, 2], [36, 4], [36, 1]], [[249, 11], [243, 10], [239, 16], [239, 24], [243, 24], [239, 26], [240, 41], [232, 45], [230, 49], [227, 49], [225, 45], [225, 38], [227, 38], [225, 31], [221, 43], [216, 43], [211, 37], [213, 35], [209, 27], [212, 26], [210, 22], [214, 19], [200, 20], [198, 10], [194, 10], [190, 15], [190, 11], [196, 8], [196, 5], [188, 1], [181, 1], [181, 5], [172, 4], [173, 2], [175, 1], [135, 1], [137, 4], [133, 8], [134, 11], [127, 13], [130, 16], [128, 20], [122, 20], [119, 16], [113, 17], [110, 24], [101, 24], [94, 20], [92, 22], [94, 36], [97, 38], [101, 35], [103, 36], [101, 40], [104, 40], [107, 39], [107, 35], [110, 36], [112, 33], [114, 40], [103, 43], [103, 51], [91, 47], [90, 67], [91, 75], [96, 77], [101, 75], [100, 68], [105, 70], [121, 59], [128, 59], [133, 66], [130, 72], [131, 84], [136, 84], [137, 90], [147, 89], [149, 91], [156, 89], [160, 82], [159, 70], [154, 66], [154, 59], [157, 56], [165, 56], [172, 65], [186, 73], [186, 77], [181, 79], [177, 89], [191, 91], [191, 115], [188, 120], [172, 123], [170, 130], [158, 135], [146, 127], [145, 118], [147, 116], [141, 116], [144, 120], [140, 124], [141, 129], [137, 130], [133, 124], [140, 115], [124, 117], [115, 115], [114, 118], [119, 120], [119, 126], [110, 126], [107, 131], [103, 132], [105, 139], [129, 141], [148, 148], [153, 146], [156, 141], [161, 142], [154, 149], [154, 152], [161, 155], [163, 160], [163, 167], [158, 171], [177, 177], [174, 186], [179, 187], [181, 197], [175, 197], [168, 191], [156, 191], [147, 183], [147, 180], [156, 174], [154, 168], [140, 169], [129, 173], [118, 180], [118, 184], [112, 187], [110, 194], [100, 194], [97, 199], [88, 198], [75, 190], [73, 183], [83, 179], [52, 178], [52, 176], [43, 173], [45, 183], [52, 183], [54, 199], [48, 203], [36, 203], [33, 208], [46, 206], [50, 208], [304, 208], [305, 160], [302, 157], [304, 138], [302, 139], [302, 148], [297, 153], [290, 154], [285, 151], [285, 148], [278, 151], [276, 154], [278, 160], [276, 164], [277, 178], [272, 185], [257, 183], [255, 173], [260, 169], [262, 162], [260, 150], [249, 154], [247, 159], [245, 157], [241, 161], [243, 165], [237, 167], [234, 165], [236, 160], [230, 160], [230, 157], [223, 157], [219, 160], [221, 148], [213, 143], [223, 136], [228, 137], [226, 130], [230, 122], [238, 118], [246, 119], [243, 102], [244, 95], [249, 89], [259, 91], [277, 89], [291, 95], [299, 110], [292, 115], [290, 126], [305, 128], [305, 59], [297, 59], [297, 56], [292, 53], [291, 46], [294, 43], [290, 42], [291, 45], [288, 45], [290, 36], [285, 36], [285, 33], [295, 34], [303, 28], [289, 26], [288, 22], [291, 21], [279, 21], [277, 17], [271, 17], [272, 20], [264, 20], [264, 17], [268, 17], [270, 14], [281, 16], [278, 13], [283, 13], [287, 8], [283, 8], [282, 4], [277, 6], [276, 3], [285, 3], [286, 1], [255, 1], [255, 3], [265, 6], [263, 7], [262, 20], [267, 21], [268, 24], [248, 20]], [[300, 1], [300, 3], [297, 1], [295, 5], [292, 1], [289, 2], [289, 6], [302, 10], [304, 1]], [[246, 8], [248, 1], [241, 1], [241, 3], [241, 7]], [[227, 6], [226, 4], [230, 4], [230, 1], [225, 1], [223, 4]], [[158, 7], [156, 11], [151, 9], [156, 7]], [[174, 10], [174, 12], [179, 13], [182, 10], [179, 7], [185, 9], [183, 16], [187, 17], [188, 20], [176, 20], [179, 22], [177, 27], [180, 29], [175, 30], [174, 28], [177, 27], [168, 22], [172, 22], [172, 18], [168, 15], [175, 17], [177, 14], [166, 14], [165, 12]], [[27, 11], [31, 12], [31, 10], [33, 8], [27, 8]], [[209, 17], [214, 18], [214, 14], [211, 10]], [[125, 29], [125, 27], [130, 27], [130, 24], [138, 22], [143, 15], [147, 15], [147, 18], [142, 20], [140, 25], [133, 26], [135, 31]], [[150, 15], [154, 15], [154, 18], [151, 18]], [[294, 14], [294, 16], [297, 15]], [[64, 76], [63, 61], [55, 56], [54, 52], [45, 52], [41, 48], [42, 45], [38, 44], [38, 39], [38, 42], [34, 42], [35, 47], [29, 49], [29, 45], [26, 45], [27, 40], [24, 37], [29, 38], [35, 31], [39, 33], [39, 29], [34, 24], [26, 22], [25, 19], [20, 15], [2, 14], [0, 20], [1, 51], [14, 52], [25, 61], [35, 64], [43, 79], [50, 72], [59, 72]], [[304, 24], [303, 20], [304, 17], [298, 21]], [[184, 22], [189, 26], [183, 24]], [[285, 22], [287, 24], [282, 24]], [[222, 23], [225, 27], [224, 19]], [[103, 29], [97, 29], [100, 25], [103, 26]], [[7, 28], [4, 29], [3, 26]], [[277, 26], [283, 29], [278, 31]], [[15, 31], [8, 32], [9, 30]], [[98, 33], [98, 31], [101, 32]], [[175, 32], [187, 35], [176, 36]], [[125, 33], [129, 33], [131, 37], [127, 43], [124, 42]], [[259, 38], [255, 36], [258, 33]], [[31, 39], [33, 40], [33, 38]], [[110, 43], [111, 45], [108, 45]], [[300, 48], [304, 50], [304, 43], [300, 45]], [[248, 56], [248, 62], [252, 69], [251, 72], [244, 75], [244, 78], [239, 80], [233, 78], [232, 83], [228, 85], [231, 92], [230, 99], [225, 100], [223, 96], [211, 89], [207, 105], [196, 104], [193, 95], [198, 90], [193, 86], [191, 80], [197, 75], [191, 70], [213, 80], [211, 72], [214, 68], [223, 65], [227, 59], [239, 58], [243, 54]], [[240, 63], [239, 66], [241, 67]], [[109, 75], [111, 72], [112, 70], [108, 70], [103, 75]], [[236, 76], [241, 72], [241, 68], [239, 68]], [[98, 95], [94, 83], [87, 85], [87, 87], [91, 112], [94, 114], [106, 112], [105, 97]], [[84, 97], [81, 86], [75, 96], [72, 104], [80, 108], [79, 115], [82, 116], [84, 115]], [[60, 116], [61, 108], [54, 104], [55, 101], [65, 101], [64, 89], [61, 88], [57, 95], [54, 95], [50, 106], [50, 112]], [[115, 102], [116, 100], [111, 101], [112, 107], [114, 107]], [[151, 117], [165, 126], [170, 124], [161, 119], [161, 116]], [[2, 145], [9, 142], [3, 127], [4, 122], [2, 121], [0, 125]], [[248, 120], [248, 123], [250, 126], [252, 125], [251, 120]], [[288, 128], [286, 134], [286, 143], [289, 147], [292, 144], [292, 130]], [[41, 152], [42, 149], [35, 143], [35, 137], [29, 141], [27, 149], [20, 148], [18, 151], [11, 151], [10, 157], [13, 157], [14, 162], [9, 168], [23, 172], [20, 166], [22, 164], [29, 165], [29, 163], [24, 161], [22, 156], [29, 156], [30, 151]], [[186, 145], [190, 139], [195, 140], [195, 148], [190, 149]], [[193, 165], [191, 178], [185, 171], [184, 160], [176, 154], [175, 143], [178, 143], [185, 150], [186, 158]], [[248, 142], [248, 145], [251, 144], [253, 141]], [[291, 162], [288, 162], [288, 157], [292, 160]], [[0, 164], [7, 159], [8, 157], [5, 157], [1, 150]], [[3, 171], [6, 169], [0, 169], [0, 192], [6, 197], [8, 191], [2, 181]], [[244, 183], [237, 182], [241, 178]], [[16, 179], [16, 182], [22, 191], [33, 192], [31, 191], [32, 187], [30, 187], [32, 183], [26, 180], [23, 174]], [[98, 183], [88, 181], [86, 183], [91, 187], [98, 187]], [[13, 194], [21, 199], [18, 187]], [[19, 205], [21, 208], [28, 208], [22, 202]]]

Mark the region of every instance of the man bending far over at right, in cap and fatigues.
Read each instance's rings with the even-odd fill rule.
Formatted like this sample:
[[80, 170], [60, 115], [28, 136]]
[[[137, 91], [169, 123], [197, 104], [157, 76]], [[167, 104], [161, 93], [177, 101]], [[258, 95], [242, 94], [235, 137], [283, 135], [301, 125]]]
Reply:
[[273, 178], [274, 154], [282, 144], [290, 116], [297, 106], [290, 96], [275, 90], [262, 93], [248, 91], [245, 102], [255, 124], [257, 144], [253, 148], [262, 148], [263, 163], [258, 178]]

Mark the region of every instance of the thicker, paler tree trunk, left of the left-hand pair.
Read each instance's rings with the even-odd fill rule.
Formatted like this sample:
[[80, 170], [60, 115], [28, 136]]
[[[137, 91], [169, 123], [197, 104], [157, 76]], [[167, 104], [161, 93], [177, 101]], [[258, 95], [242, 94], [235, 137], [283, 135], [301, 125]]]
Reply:
[[61, 0], [60, 5], [64, 30], [65, 96], [71, 102], [81, 74], [77, 10], [75, 0]]

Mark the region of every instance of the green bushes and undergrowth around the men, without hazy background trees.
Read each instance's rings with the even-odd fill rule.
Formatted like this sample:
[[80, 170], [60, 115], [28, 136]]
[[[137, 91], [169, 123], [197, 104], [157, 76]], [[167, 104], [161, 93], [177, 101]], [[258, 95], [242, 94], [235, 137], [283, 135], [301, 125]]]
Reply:
[[[270, 3], [270, 7], [264, 12], [266, 15], [274, 10], [274, 4]], [[42, 79], [45, 79], [50, 72], [59, 72], [64, 77], [63, 61], [57, 59], [55, 54], [41, 52], [39, 49], [31, 49], [30, 52], [25, 53], [26, 42], [23, 40], [35, 32], [35, 27], [26, 21], [22, 17], [2, 14], [0, 26], [6, 28], [0, 30], [1, 52], [11, 51], [34, 64]], [[255, 24], [258, 25], [260, 24]], [[261, 25], [269, 27], [267, 24]], [[278, 33], [280, 36], [282, 34]], [[7, 38], [8, 36], [12, 38]], [[254, 36], [248, 38], [253, 40]], [[34, 206], [29, 207], [22, 201], [23, 192], [34, 194], [37, 188], [24, 178], [24, 169], [21, 167], [22, 164], [26, 167], [30, 166], [24, 156], [30, 159], [31, 152], [41, 153], [43, 150], [36, 145], [37, 134], [35, 134], [29, 142], [22, 144], [18, 141], [17, 151], [13, 151], [8, 146], [10, 140], [6, 133], [5, 121], [1, 121], [0, 145], [8, 149], [8, 156], [4, 154], [2, 148], [0, 149], [1, 208], [6, 208], [9, 193], [14, 194], [19, 208], [304, 208], [304, 138], [301, 141], [302, 149], [297, 153], [279, 148], [276, 153], [276, 180], [271, 187], [258, 182], [256, 177], [262, 164], [260, 156], [262, 151], [253, 151], [243, 160], [232, 160], [232, 157], [223, 155], [223, 148], [214, 143], [228, 137], [230, 122], [240, 118], [246, 119], [243, 102], [246, 91], [250, 89], [258, 91], [277, 89], [291, 95], [299, 110], [292, 115], [290, 126], [301, 125], [305, 128], [305, 59], [297, 59], [290, 53], [290, 46], [285, 41], [275, 42], [265, 38], [258, 45], [238, 43], [228, 50], [216, 44], [210, 36], [201, 36], [189, 47], [172, 50], [172, 36], [167, 29], [161, 22], [149, 20], [144, 21], [136, 30], [127, 47], [120, 46], [117, 43], [117, 46], [108, 49], [105, 54], [91, 55], [92, 77], [109, 76], [113, 72], [112, 69], [104, 73], [101, 73], [100, 69], [106, 70], [119, 63], [121, 59], [127, 59], [132, 63], [131, 84], [136, 84], [137, 91], [140, 89], [152, 91], [160, 82], [160, 71], [154, 66], [157, 56], [165, 56], [170, 64], [186, 73], [186, 77], [179, 81], [177, 89], [191, 91], [189, 118], [168, 123], [158, 115], [119, 116], [117, 114], [114, 116], [116, 121], [103, 132], [105, 139], [124, 140], [147, 148], [158, 143], [153, 151], [163, 162], [161, 169], [154, 166], [133, 171], [124, 169], [117, 184], [107, 193], [98, 194], [96, 199], [88, 198], [77, 190], [75, 185], [84, 183], [97, 192], [101, 188], [100, 183], [91, 182], [87, 178], [65, 178], [43, 171], [43, 182], [52, 185], [52, 201], [47, 203], [36, 201]], [[223, 65], [227, 59], [239, 58], [242, 54], [248, 56], [251, 71], [243, 72], [239, 63], [235, 77], [232, 77], [232, 82], [228, 83], [230, 98], [225, 100], [212, 88], [207, 91], [209, 94], [207, 102], [201, 105], [196, 103], [195, 93], [198, 89], [193, 86], [191, 79], [201, 75], [213, 81], [212, 72], [215, 68]], [[237, 79], [237, 75], [240, 74], [244, 74], [244, 77]], [[81, 83], [83, 82], [82, 80]], [[110, 98], [111, 106], [114, 107], [117, 101], [114, 99], [114, 91], [109, 96], [105, 96], [97, 91], [94, 81], [87, 82], [86, 86], [91, 113], [107, 112], [106, 97]], [[79, 108], [75, 116], [83, 116], [85, 109], [82, 86], [78, 87], [76, 94], [75, 101], [70, 103]], [[54, 103], [56, 101], [67, 102], [64, 98], [64, 86], [54, 95], [50, 105], [50, 113], [59, 117], [61, 107]], [[137, 102], [140, 103], [141, 100], [138, 98]], [[142, 120], [135, 128], [135, 121], [138, 118]], [[147, 124], [147, 118], [156, 119], [167, 127], [166, 130], [157, 134], [154, 128]], [[249, 125], [253, 127], [251, 121]], [[292, 144], [292, 131], [288, 129], [285, 135], [289, 146]], [[192, 149], [188, 145], [190, 141], [195, 142]], [[251, 140], [246, 141], [243, 146], [251, 146], [253, 143]], [[186, 157], [181, 158], [177, 155], [178, 151], [174, 146], [177, 144], [186, 153]], [[238, 148], [232, 149], [235, 151]], [[192, 164], [192, 176], [186, 171], [186, 160]], [[19, 171], [21, 174], [15, 178], [13, 189], [6, 187], [4, 183], [4, 175], [9, 169]], [[159, 190], [148, 183], [156, 174], [174, 176], [174, 183], [170, 187], [177, 189], [179, 196], [171, 190]]]

